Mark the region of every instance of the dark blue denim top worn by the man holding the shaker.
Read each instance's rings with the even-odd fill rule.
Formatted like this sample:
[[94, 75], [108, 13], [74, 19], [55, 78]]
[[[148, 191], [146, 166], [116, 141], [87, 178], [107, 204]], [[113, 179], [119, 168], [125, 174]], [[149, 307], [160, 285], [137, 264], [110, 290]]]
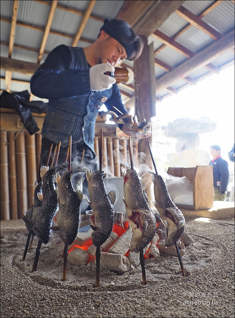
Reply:
[[84, 142], [94, 151], [95, 122], [99, 107], [115, 106], [127, 113], [117, 84], [91, 91], [90, 65], [83, 48], [59, 45], [47, 56], [30, 80], [31, 92], [49, 100], [42, 135], [61, 147]]

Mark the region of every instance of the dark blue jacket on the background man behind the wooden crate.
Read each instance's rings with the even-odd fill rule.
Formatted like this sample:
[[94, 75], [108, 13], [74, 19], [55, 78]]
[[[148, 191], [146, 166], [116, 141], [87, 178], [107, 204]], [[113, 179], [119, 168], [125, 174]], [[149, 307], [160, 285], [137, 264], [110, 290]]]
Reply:
[[[213, 166], [214, 187], [219, 188], [220, 193], [225, 193], [229, 179], [228, 162], [220, 157], [213, 162], [211, 160], [210, 165]], [[220, 182], [220, 185], [217, 182]]]

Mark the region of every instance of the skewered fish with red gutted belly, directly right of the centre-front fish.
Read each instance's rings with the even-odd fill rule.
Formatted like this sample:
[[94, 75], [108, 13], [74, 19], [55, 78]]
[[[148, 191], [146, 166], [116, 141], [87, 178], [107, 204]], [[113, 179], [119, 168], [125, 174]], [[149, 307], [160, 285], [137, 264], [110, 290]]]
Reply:
[[129, 152], [131, 168], [126, 170], [122, 167], [124, 178], [124, 204], [127, 213], [127, 221], [132, 228], [132, 238], [130, 244], [131, 252], [140, 252], [140, 263], [142, 267], [142, 281], [146, 284], [144, 267], [144, 248], [151, 242], [155, 233], [157, 222], [149, 206], [146, 192], [142, 190], [141, 182], [137, 171], [133, 166], [131, 139], [129, 137]]

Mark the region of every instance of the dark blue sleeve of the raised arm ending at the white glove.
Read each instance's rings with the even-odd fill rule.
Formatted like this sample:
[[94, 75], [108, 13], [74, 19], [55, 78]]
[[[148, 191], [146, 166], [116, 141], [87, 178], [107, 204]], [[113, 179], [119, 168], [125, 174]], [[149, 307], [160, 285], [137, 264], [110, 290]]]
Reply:
[[31, 92], [46, 99], [90, 95], [90, 68], [72, 68], [71, 61], [71, 52], [66, 45], [53, 49], [31, 77]]

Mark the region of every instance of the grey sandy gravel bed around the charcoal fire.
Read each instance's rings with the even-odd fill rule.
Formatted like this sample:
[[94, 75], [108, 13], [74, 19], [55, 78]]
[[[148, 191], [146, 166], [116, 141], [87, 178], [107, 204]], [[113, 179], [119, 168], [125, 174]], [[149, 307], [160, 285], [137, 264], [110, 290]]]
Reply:
[[100, 272], [94, 287], [95, 263], [68, 264], [51, 243], [42, 244], [37, 271], [32, 271], [37, 239], [22, 261], [27, 233], [1, 232], [1, 317], [234, 317], [234, 219], [186, 217], [194, 243], [182, 257], [145, 260], [118, 274]]

